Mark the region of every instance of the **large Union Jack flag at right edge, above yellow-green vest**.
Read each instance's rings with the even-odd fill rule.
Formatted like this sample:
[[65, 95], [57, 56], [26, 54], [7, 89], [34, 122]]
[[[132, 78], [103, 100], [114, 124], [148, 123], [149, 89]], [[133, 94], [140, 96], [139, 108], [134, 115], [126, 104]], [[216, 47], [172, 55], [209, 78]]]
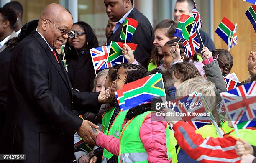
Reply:
[[256, 118], [256, 82], [220, 93], [230, 120], [237, 124]]

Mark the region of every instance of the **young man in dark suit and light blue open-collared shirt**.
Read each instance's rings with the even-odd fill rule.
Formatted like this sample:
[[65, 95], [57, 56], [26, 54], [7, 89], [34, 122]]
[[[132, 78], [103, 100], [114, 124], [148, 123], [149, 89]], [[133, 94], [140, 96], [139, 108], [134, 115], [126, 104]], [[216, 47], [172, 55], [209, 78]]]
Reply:
[[131, 43], [138, 44], [134, 53], [135, 59], [144, 67], [147, 67], [148, 59], [151, 55], [154, 41], [154, 30], [148, 19], [133, 7], [133, 0], [104, 0], [108, 18], [111, 21], [118, 22], [115, 25], [113, 34], [108, 38], [107, 45], [111, 41], [124, 42], [120, 38], [123, 22], [126, 17], [137, 20], [136, 28]]

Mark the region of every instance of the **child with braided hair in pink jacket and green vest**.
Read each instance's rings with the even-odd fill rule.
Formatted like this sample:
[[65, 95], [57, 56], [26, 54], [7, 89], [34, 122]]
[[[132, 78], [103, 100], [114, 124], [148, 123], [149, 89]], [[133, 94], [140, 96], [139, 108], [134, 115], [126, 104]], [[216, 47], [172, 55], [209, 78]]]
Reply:
[[[160, 69], [147, 73], [146, 69], [137, 67], [138, 65], [127, 64], [118, 69], [114, 87], [118, 90], [128, 82], [136, 81], [156, 71], [161, 73]], [[97, 145], [117, 155], [118, 162], [122, 163], [172, 162], [166, 146], [169, 144], [169, 126], [167, 122], [152, 120], [151, 117], [155, 114], [151, 112], [150, 103], [131, 108], [126, 112], [121, 124], [120, 139], [97, 130]]]

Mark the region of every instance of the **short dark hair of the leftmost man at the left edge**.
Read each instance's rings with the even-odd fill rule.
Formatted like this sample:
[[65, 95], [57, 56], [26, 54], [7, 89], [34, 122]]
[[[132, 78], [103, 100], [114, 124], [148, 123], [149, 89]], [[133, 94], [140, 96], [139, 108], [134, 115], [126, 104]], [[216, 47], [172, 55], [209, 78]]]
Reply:
[[17, 21], [17, 15], [15, 11], [11, 8], [0, 8], [0, 13], [2, 14], [3, 22], [9, 21], [10, 28], [13, 29], [13, 26]]

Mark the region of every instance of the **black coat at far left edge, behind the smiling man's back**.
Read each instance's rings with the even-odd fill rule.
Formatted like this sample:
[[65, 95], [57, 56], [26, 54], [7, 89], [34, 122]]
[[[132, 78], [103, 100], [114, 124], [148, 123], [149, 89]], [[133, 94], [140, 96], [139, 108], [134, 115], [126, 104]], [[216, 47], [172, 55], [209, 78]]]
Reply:
[[11, 55], [12, 53], [8, 47], [0, 53], [0, 140], [3, 135], [6, 120], [7, 84]]

